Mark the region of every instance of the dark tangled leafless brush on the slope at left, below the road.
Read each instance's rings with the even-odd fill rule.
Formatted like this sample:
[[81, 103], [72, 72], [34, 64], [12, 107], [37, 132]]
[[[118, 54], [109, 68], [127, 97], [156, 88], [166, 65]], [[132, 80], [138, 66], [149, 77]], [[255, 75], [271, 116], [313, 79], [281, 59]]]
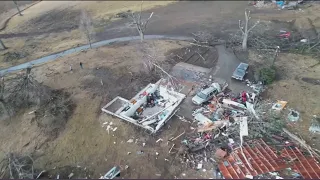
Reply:
[[[2, 79], [3, 80], [3, 79]], [[9, 83], [8, 83], [9, 84]], [[69, 93], [62, 90], [52, 90], [39, 83], [31, 75], [31, 68], [20, 74], [17, 80], [11, 80], [6, 86], [1, 83], [1, 116], [14, 116], [16, 112], [35, 108], [35, 120], [45, 133], [56, 136], [64, 127], [74, 109], [74, 103]]]

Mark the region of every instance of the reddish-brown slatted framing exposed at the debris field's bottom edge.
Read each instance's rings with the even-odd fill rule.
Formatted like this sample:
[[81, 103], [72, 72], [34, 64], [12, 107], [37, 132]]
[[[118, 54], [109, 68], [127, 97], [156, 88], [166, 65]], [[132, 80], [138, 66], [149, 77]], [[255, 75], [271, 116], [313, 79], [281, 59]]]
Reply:
[[[243, 179], [246, 175], [257, 176], [287, 167], [292, 167], [304, 178], [320, 179], [320, 166], [316, 159], [304, 156], [297, 147], [286, 147], [278, 156], [274, 149], [260, 139], [244, 145], [242, 150], [243, 153], [241, 149], [235, 150], [219, 163], [218, 167], [226, 179]], [[286, 159], [295, 160], [290, 164]]]

